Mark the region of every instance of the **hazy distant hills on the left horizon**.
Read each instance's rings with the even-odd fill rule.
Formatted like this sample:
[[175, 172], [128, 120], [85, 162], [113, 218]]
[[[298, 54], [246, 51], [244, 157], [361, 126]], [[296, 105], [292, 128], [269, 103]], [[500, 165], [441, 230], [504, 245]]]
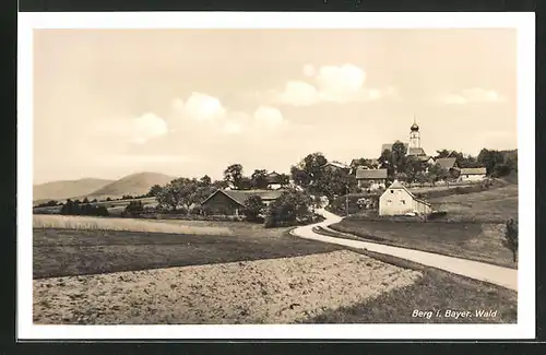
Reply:
[[140, 196], [150, 191], [154, 185], [166, 185], [175, 177], [143, 171], [131, 174], [119, 180], [84, 178], [79, 180], [51, 181], [33, 187], [33, 200], [66, 200], [66, 199], [100, 199], [116, 198], [126, 194]]

